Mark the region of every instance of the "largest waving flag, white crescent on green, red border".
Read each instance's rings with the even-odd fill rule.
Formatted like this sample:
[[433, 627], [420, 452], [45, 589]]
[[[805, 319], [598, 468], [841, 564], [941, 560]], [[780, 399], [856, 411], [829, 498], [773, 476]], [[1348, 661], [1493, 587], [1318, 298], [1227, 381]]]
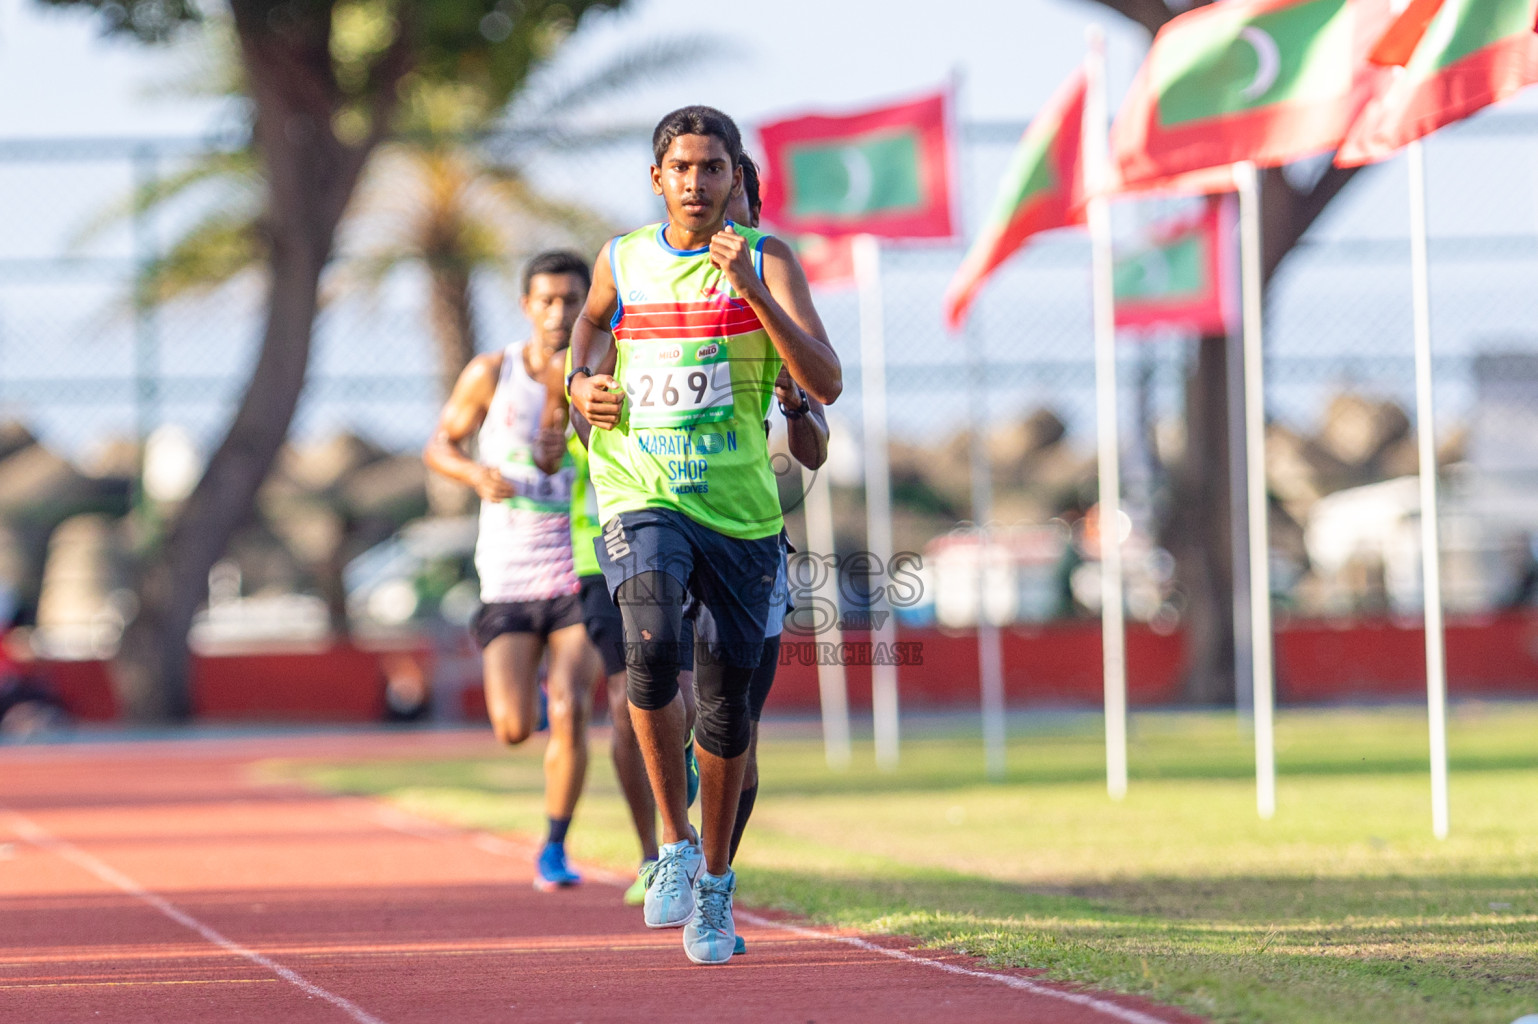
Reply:
[[1115, 177], [1333, 149], [1387, 74], [1366, 57], [1389, 18], [1389, 0], [1226, 0], [1170, 20], [1110, 129]]

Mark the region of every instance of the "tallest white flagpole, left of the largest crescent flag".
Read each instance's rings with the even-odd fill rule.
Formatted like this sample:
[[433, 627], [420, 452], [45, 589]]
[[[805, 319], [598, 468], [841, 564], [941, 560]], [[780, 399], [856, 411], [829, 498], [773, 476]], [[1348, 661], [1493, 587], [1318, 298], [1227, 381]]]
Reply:
[[1100, 643], [1106, 687], [1106, 792], [1127, 795], [1127, 627], [1121, 577], [1121, 464], [1117, 417], [1117, 308], [1112, 291], [1106, 168], [1106, 37], [1089, 26], [1084, 97], [1084, 178], [1095, 320], [1095, 434], [1100, 463]]

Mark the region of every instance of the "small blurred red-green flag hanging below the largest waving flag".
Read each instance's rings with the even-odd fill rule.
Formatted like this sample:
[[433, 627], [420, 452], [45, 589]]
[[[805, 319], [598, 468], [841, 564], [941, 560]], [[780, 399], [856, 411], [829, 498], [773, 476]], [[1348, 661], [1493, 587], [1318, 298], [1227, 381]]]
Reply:
[[1229, 334], [1237, 306], [1232, 197], [1210, 197], [1192, 215], [1155, 228], [1149, 244], [1117, 260], [1118, 327]]

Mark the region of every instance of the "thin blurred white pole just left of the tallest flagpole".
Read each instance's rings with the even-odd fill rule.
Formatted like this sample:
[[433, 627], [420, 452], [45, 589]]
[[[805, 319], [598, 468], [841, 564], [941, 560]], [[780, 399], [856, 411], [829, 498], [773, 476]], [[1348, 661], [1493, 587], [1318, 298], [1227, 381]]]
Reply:
[[994, 557], [994, 470], [987, 458], [987, 381], [972, 337], [964, 340], [972, 378], [972, 520], [977, 523], [977, 667], [981, 681], [983, 761], [987, 776], [1004, 780], [1004, 644], [987, 613], [987, 566]]

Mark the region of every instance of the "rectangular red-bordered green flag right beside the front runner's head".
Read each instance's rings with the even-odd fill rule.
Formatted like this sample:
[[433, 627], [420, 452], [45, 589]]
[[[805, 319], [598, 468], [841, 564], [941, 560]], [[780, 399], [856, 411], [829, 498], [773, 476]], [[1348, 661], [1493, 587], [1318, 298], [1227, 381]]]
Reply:
[[946, 103], [761, 126], [764, 220], [789, 234], [950, 238]]

